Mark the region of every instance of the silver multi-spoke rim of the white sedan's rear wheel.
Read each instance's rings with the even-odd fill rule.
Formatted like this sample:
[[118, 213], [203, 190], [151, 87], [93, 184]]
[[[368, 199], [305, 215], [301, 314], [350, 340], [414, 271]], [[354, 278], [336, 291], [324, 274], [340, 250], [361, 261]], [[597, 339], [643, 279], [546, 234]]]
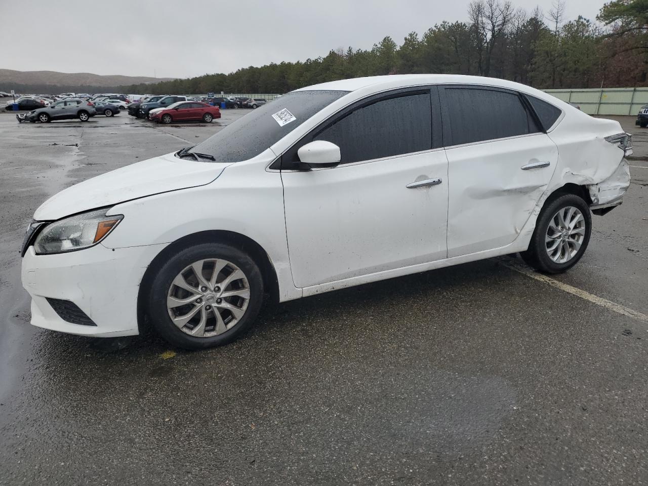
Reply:
[[585, 238], [585, 218], [581, 210], [562, 207], [553, 215], [544, 238], [547, 255], [556, 263], [566, 263], [576, 256]]

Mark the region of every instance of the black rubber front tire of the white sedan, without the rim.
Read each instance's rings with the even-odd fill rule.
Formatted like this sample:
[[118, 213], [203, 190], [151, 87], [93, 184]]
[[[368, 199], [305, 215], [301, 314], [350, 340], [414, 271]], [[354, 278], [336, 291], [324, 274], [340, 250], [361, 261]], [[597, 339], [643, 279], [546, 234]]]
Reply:
[[[248, 308], [238, 323], [222, 334], [209, 338], [189, 336], [176, 327], [168, 314], [168, 290], [183, 268], [199, 260], [213, 258], [232, 262], [244, 272], [250, 291]], [[179, 251], [155, 271], [151, 282], [146, 308], [152, 326], [170, 344], [183, 349], [205, 349], [238, 339], [253, 325], [263, 300], [263, 279], [257, 264], [246, 253], [225, 244], [202, 243]]]

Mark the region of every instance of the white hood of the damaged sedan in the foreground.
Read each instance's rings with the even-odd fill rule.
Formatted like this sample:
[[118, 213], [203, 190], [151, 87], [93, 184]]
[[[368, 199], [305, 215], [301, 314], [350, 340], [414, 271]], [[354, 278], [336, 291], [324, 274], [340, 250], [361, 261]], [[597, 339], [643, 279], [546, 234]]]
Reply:
[[106, 172], [54, 194], [36, 209], [37, 221], [110, 206], [161, 192], [209, 184], [229, 164], [179, 159], [174, 153]]

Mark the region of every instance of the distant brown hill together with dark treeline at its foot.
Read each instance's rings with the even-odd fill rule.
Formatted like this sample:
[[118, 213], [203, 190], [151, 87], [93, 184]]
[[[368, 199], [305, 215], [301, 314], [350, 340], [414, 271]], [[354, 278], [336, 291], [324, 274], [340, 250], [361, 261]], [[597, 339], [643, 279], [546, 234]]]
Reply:
[[101, 93], [116, 91], [118, 86], [172, 81], [175, 78], [148, 76], [100, 76], [92, 73], [57, 73], [56, 71], [14, 71], [0, 69], [0, 91], [16, 93]]

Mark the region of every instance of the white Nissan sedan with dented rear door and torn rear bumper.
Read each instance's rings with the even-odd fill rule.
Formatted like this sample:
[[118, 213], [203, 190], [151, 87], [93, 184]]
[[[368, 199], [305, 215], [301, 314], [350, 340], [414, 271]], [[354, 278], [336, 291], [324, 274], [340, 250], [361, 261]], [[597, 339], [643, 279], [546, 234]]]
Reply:
[[[202, 143], [74, 185], [23, 245], [32, 324], [227, 343], [278, 301], [520, 252], [564, 272], [621, 203], [631, 137], [470, 76], [305, 87]], [[148, 319], [146, 319], [148, 316]]]

